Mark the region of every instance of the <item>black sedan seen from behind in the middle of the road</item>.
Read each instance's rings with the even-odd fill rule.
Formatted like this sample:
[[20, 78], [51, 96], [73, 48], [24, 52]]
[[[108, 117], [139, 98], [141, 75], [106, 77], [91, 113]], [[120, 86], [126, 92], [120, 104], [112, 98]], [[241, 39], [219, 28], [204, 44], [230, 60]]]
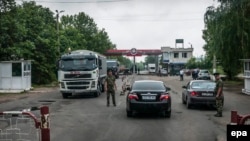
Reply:
[[171, 116], [170, 88], [162, 81], [140, 80], [135, 81], [127, 95], [127, 116], [135, 112], [162, 113], [164, 117]]

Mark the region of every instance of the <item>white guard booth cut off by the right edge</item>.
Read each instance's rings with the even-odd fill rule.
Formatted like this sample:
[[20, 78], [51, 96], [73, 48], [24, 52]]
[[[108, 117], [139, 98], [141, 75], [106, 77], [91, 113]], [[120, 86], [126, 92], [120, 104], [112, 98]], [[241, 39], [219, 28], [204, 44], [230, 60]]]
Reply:
[[242, 89], [242, 93], [250, 95], [250, 59], [242, 59], [244, 62], [244, 74], [243, 77], [245, 79], [244, 88]]

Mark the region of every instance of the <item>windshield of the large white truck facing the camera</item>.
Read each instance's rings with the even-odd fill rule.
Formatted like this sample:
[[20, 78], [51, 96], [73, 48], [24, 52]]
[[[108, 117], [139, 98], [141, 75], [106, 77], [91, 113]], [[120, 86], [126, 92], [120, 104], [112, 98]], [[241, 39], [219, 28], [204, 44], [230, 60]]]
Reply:
[[91, 71], [96, 69], [95, 58], [63, 59], [59, 68], [64, 71]]

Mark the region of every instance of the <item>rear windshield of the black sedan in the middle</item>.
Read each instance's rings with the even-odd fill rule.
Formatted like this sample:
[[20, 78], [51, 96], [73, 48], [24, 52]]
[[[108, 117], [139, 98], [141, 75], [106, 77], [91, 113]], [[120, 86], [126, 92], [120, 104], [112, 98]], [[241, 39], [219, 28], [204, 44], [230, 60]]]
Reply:
[[133, 90], [165, 90], [161, 82], [135, 82]]

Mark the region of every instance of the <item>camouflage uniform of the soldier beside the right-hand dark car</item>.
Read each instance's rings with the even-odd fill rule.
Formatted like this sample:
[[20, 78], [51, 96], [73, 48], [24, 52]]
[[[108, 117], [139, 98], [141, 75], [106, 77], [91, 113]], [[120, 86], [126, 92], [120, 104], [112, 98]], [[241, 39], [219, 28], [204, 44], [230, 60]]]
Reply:
[[215, 116], [222, 116], [222, 108], [223, 108], [223, 82], [221, 79], [216, 80], [215, 94], [217, 95], [218, 89], [222, 88], [220, 96], [216, 98], [216, 109], [217, 114]]

